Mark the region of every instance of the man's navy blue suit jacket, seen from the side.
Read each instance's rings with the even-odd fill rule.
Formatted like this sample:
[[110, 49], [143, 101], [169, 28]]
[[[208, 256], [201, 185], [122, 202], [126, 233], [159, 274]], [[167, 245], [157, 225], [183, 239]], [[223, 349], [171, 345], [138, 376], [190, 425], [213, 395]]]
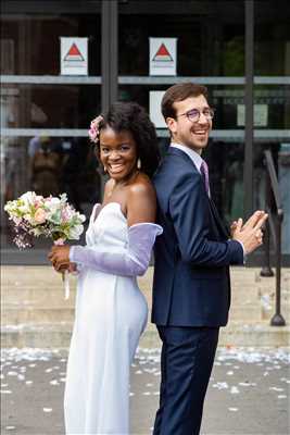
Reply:
[[153, 177], [157, 223], [152, 322], [169, 326], [223, 326], [230, 304], [229, 264], [243, 263], [229, 240], [192, 160], [168, 149]]

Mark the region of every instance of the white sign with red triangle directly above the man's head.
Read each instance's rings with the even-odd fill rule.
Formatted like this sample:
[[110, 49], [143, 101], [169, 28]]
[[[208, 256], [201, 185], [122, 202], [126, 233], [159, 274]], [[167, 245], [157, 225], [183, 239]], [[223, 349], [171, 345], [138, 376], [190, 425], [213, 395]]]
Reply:
[[150, 75], [176, 75], [177, 38], [149, 38]]

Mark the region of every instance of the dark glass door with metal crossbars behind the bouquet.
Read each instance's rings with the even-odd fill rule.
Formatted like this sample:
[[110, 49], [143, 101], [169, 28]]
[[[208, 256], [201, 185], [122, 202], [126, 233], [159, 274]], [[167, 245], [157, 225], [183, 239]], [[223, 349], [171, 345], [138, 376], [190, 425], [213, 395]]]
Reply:
[[[75, 208], [89, 215], [101, 197], [98, 161], [87, 139], [90, 120], [101, 111], [101, 2], [93, 2], [93, 11], [91, 4], [86, 9], [85, 3], [91, 2], [83, 2], [83, 8], [74, 8], [79, 2], [70, 8], [59, 2], [53, 10], [49, 2], [46, 8], [35, 2], [30, 9], [23, 2], [25, 14], [10, 12], [10, 2], [5, 3], [7, 13], [1, 16], [1, 246], [5, 258], [17, 262], [24, 256], [12, 245], [5, 201], [27, 190], [45, 196], [66, 191]], [[61, 74], [61, 37], [87, 38], [87, 75]], [[36, 249], [28, 252], [33, 262], [37, 249], [48, 244], [37, 240]]]

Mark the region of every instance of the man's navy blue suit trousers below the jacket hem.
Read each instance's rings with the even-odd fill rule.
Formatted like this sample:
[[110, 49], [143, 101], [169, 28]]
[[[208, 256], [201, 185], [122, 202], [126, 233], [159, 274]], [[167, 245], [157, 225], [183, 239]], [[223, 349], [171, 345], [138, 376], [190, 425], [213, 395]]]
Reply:
[[153, 435], [198, 435], [219, 328], [157, 330], [163, 341], [162, 384]]

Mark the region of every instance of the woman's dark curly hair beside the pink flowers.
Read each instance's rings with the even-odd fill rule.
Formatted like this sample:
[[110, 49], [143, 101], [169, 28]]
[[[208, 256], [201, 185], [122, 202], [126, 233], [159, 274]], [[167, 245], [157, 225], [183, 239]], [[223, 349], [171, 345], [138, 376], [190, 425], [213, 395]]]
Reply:
[[[114, 132], [129, 132], [137, 147], [137, 159], [141, 161], [141, 171], [151, 177], [160, 163], [160, 149], [154, 124], [146, 110], [136, 102], [115, 102], [99, 124], [102, 128], [111, 127]], [[100, 136], [99, 136], [100, 137]], [[100, 141], [97, 141], [97, 153], [100, 156]]]

